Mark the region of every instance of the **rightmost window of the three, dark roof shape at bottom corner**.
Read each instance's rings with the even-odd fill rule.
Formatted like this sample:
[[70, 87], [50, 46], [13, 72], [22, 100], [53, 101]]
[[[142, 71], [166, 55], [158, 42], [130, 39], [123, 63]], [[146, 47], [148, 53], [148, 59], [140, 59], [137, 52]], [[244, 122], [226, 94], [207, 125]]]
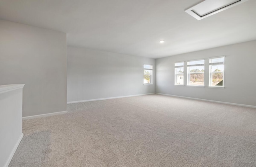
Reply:
[[210, 58], [210, 86], [224, 87], [224, 57]]

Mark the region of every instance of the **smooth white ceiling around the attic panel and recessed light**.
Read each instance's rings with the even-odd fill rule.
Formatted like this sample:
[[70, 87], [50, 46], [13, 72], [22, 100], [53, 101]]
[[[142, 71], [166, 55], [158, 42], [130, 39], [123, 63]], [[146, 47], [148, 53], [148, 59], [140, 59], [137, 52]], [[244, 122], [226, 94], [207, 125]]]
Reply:
[[256, 39], [256, 0], [199, 21], [184, 12], [201, 1], [0, 0], [0, 19], [66, 32], [71, 46], [151, 58]]

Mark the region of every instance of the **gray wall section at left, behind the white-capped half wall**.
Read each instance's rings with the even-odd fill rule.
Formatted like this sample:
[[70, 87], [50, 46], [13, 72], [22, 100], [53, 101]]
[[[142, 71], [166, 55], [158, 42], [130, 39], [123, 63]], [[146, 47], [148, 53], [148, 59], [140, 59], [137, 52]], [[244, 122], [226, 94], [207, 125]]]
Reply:
[[0, 85], [25, 84], [23, 116], [66, 110], [66, 33], [0, 20]]

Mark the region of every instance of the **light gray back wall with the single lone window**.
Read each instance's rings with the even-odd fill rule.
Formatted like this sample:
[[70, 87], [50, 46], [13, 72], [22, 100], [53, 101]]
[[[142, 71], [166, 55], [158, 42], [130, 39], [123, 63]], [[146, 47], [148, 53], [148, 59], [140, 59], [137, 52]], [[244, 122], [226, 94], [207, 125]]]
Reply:
[[155, 92], [155, 71], [153, 84], [143, 85], [143, 64], [155, 67], [155, 59], [79, 47], [67, 53], [68, 102]]

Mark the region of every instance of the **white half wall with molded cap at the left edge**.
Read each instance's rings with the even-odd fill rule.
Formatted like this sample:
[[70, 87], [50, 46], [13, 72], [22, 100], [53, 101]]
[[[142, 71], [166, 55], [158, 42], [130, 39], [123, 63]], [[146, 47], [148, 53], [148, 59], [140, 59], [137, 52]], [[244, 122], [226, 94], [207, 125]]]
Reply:
[[8, 167], [23, 137], [23, 86], [23, 84], [0, 86], [0, 167]]

